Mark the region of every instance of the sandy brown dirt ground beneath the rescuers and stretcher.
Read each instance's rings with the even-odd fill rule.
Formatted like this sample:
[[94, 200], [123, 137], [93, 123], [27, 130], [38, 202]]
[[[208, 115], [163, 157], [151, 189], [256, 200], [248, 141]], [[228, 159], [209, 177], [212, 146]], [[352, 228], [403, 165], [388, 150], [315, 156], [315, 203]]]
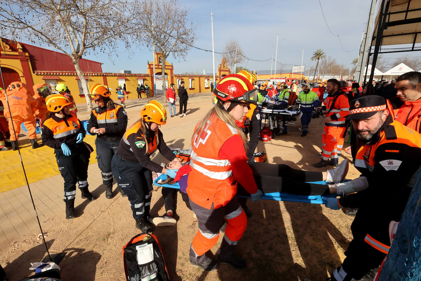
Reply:
[[[163, 101], [162, 97], [158, 98]], [[146, 101], [129, 100], [129, 125], [138, 119]], [[200, 118], [212, 107], [208, 94], [192, 95], [187, 116], [168, 118], [161, 129], [168, 146], [188, 149], [192, 131]], [[165, 108], [168, 106], [165, 102]], [[80, 119], [88, 113], [78, 112]], [[300, 121], [289, 124], [288, 135], [275, 136], [270, 142], [259, 142], [256, 151], [266, 151], [269, 163], [288, 164], [295, 169], [325, 171], [312, 166], [320, 160], [322, 118], [313, 119], [309, 134], [301, 137]], [[346, 147], [346, 145], [345, 145]], [[350, 158], [350, 155], [344, 154]], [[157, 163], [165, 159], [157, 153]], [[89, 169], [98, 169], [92, 164]], [[330, 168], [331, 169], [331, 168]], [[348, 177], [358, 176], [350, 166]], [[100, 177], [100, 174], [98, 174]], [[88, 178], [89, 181], [89, 178]], [[114, 187], [116, 187], [116, 183]], [[51, 254], [66, 252], [59, 264], [62, 279], [102, 281], [125, 280], [122, 248], [131, 237], [139, 233], [131, 215], [128, 199], [114, 191], [112, 199], [105, 198], [104, 185], [91, 185], [90, 190], [99, 196], [95, 201], [84, 201], [76, 206], [77, 217], [66, 220], [63, 214], [41, 219]], [[165, 213], [159, 188], [152, 195], [152, 215]], [[36, 190], [32, 191], [36, 193]], [[77, 191], [80, 196], [80, 191]], [[61, 199], [60, 199], [61, 200]], [[342, 211], [333, 211], [324, 205], [262, 200], [249, 202], [253, 217], [237, 246], [237, 254], [245, 258], [248, 268], [237, 271], [221, 264], [217, 271], [207, 273], [189, 264], [189, 246], [197, 232], [197, 222], [178, 195], [175, 226], [155, 227], [152, 234], [160, 241], [165, 262], [172, 280], [325, 280], [341, 264], [344, 251], [352, 240], [350, 225], [353, 218]], [[58, 199], [59, 201], [59, 199]], [[58, 203], [59, 204], [59, 203]], [[64, 205], [64, 202], [61, 201]], [[39, 230], [20, 233], [19, 237], [0, 241], [0, 264], [9, 280], [20, 280], [31, 274], [29, 262], [45, 257], [45, 246], [37, 240]], [[223, 235], [211, 250], [216, 254]]]

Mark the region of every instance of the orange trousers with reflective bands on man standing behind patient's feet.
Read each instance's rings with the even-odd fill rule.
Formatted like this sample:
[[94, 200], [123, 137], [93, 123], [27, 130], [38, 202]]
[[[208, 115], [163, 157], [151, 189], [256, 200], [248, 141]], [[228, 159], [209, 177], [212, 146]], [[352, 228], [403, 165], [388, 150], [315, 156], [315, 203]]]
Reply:
[[338, 158], [344, 146], [346, 127], [325, 126], [322, 134], [322, 159], [329, 160]]

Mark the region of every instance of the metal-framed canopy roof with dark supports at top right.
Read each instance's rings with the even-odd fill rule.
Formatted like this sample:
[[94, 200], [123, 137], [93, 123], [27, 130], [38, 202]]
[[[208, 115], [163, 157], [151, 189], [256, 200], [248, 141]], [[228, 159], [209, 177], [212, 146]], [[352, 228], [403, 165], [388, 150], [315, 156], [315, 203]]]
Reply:
[[[421, 51], [421, 47], [415, 46], [421, 43], [421, 0], [378, 0], [375, 14], [368, 56], [369, 60], [373, 55], [373, 67], [368, 83], [373, 81], [378, 54]], [[382, 46], [404, 44], [412, 46], [381, 49]]]

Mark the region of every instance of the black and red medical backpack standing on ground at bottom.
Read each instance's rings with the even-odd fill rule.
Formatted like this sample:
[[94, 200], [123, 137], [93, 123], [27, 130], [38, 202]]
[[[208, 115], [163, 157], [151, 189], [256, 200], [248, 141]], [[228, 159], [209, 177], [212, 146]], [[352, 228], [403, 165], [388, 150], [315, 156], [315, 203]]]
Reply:
[[169, 281], [161, 246], [155, 235], [140, 233], [123, 247], [127, 281]]

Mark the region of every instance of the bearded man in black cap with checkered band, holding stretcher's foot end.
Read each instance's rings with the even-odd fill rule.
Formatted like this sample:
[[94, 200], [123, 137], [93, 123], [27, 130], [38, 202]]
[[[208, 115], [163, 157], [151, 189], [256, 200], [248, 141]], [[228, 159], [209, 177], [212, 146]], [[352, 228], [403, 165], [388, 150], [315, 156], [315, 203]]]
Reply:
[[359, 208], [351, 225], [354, 238], [331, 281], [360, 280], [381, 264], [390, 248], [389, 223], [400, 221], [421, 165], [421, 135], [393, 120], [383, 97], [360, 97], [350, 109], [355, 135], [349, 150], [368, 187], [327, 199], [330, 209]]

